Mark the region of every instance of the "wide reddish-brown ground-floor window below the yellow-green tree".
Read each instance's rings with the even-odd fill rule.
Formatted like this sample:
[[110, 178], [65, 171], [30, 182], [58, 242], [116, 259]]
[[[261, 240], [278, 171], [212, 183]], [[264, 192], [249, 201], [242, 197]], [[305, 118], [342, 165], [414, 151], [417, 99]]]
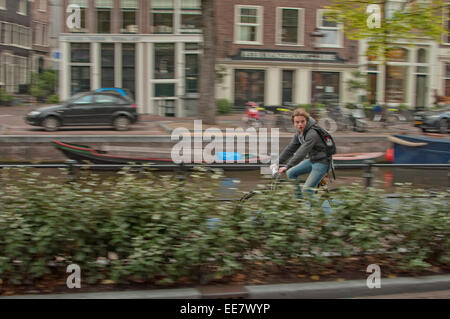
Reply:
[[405, 103], [406, 71], [405, 66], [386, 66], [386, 103]]

